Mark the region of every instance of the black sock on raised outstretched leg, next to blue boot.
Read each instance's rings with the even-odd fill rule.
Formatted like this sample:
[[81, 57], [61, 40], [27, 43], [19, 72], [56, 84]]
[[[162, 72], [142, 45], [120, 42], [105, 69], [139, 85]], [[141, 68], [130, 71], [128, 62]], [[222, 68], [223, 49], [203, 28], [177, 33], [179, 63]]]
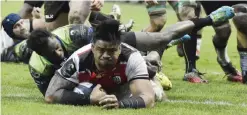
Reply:
[[213, 25], [213, 21], [209, 16], [206, 18], [193, 18], [190, 21], [195, 24], [194, 31], [198, 31], [205, 26]]

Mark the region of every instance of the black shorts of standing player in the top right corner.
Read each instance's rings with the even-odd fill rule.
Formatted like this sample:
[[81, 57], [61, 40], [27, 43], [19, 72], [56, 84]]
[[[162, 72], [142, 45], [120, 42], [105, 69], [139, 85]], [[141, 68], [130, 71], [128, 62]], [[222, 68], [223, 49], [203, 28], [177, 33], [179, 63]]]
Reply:
[[240, 3], [247, 3], [247, 1], [200, 1], [206, 14], [209, 15], [211, 12], [217, 10], [222, 6], [232, 6]]

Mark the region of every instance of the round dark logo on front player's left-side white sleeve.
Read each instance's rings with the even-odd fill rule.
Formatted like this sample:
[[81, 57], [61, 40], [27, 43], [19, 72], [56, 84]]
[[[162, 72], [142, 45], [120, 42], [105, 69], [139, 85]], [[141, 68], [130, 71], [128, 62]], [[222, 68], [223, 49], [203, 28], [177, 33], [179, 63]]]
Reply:
[[61, 74], [63, 77], [70, 78], [76, 72], [76, 67], [73, 62], [73, 59], [68, 60], [64, 63], [64, 66], [61, 68]]

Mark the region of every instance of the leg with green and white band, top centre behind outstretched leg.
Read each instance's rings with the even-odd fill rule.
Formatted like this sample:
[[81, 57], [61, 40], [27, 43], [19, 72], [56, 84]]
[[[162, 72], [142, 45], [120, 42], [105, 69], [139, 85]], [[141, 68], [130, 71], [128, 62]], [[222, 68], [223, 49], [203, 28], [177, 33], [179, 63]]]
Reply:
[[146, 6], [150, 18], [150, 25], [144, 32], [159, 32], [166, 23], [166, 1], [159, 1], [158, 5]]

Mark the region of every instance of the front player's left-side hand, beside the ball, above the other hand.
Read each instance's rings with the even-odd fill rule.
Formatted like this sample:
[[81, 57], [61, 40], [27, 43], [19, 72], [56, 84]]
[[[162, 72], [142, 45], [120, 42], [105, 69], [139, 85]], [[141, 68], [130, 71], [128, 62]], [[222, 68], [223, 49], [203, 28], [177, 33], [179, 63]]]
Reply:
[[105, 95], [107, 95], [105, 90], [100, 84], [97, 84], [90, 94], [90, 103], [98, 105], [100, 98], [104, 97]]

